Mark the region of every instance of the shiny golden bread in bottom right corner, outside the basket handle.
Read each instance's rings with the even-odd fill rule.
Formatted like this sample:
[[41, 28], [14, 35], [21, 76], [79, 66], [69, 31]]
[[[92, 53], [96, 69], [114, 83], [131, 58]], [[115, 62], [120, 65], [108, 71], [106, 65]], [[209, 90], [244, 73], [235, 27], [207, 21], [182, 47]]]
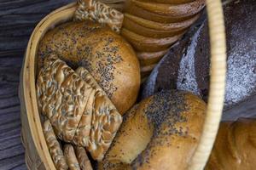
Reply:
[[249, 170], [255, 168], [256, 120], [221, 122], [206, 170]]

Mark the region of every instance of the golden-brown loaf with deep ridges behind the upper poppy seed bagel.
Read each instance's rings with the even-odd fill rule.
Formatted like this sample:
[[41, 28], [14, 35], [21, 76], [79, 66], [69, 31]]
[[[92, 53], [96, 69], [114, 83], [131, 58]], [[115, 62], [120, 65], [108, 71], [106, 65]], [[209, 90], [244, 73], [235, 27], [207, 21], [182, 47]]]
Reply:
[[[170, 48], [200, 16], [205, 0], [127, 0], [121, 35], [137, 53], [151, 52], [155, 56], [144, 59], [142, 66], [156, 64], [157, 52]], [[142, 71], [142, 78], [150, 71]]]

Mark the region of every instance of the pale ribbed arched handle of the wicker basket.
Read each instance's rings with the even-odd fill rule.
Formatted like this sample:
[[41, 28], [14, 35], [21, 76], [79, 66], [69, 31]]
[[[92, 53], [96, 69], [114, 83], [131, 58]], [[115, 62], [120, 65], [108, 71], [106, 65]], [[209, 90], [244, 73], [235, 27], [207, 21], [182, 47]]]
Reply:
[[224, 106], [226, 77], [224, 14], [220, 0], [206, 2], [211, 44], [210, 92], [201, 140], [190, 161], [189, 170], [202, 170], [205, 167], [218, 133]]

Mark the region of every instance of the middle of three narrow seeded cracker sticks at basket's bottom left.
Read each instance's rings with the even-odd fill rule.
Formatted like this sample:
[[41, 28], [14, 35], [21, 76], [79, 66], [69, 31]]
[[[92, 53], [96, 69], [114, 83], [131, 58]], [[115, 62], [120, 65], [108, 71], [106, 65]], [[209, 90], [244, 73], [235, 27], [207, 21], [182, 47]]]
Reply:
[[73, 150], [73, 145], [65, 144], [64, 145], [64, 155], [67, 159], [67, 164], [70, 170], [80, 170], [79, 161]]

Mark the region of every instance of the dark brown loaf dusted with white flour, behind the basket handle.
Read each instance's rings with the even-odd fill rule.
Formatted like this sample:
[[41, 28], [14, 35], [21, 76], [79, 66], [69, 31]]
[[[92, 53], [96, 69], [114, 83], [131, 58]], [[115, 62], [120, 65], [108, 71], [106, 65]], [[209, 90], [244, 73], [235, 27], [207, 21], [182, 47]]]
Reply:
[[[224, 111], [227, 112], [256, 94], [255, 7], [254, 0], [226, 1], [223, 5], [227, 39]], [[155, 74], [148, 78], [143, 94], [150, 96], [159, 89], [178, 89], [200, 95], [207, 101], [211, 48], [206, 19], [170, 48], [154, 70]]]

